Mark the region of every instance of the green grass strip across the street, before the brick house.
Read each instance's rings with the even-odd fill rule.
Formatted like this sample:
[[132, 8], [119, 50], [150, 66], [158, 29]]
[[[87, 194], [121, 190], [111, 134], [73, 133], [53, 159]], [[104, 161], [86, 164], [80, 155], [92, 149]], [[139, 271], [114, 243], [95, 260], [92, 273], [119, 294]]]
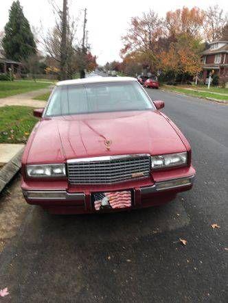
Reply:
[[[190, 96], [193, 96], [193, 97], [199, 97], [199, 98], [212, 98], [212, 99], [218, 99], [218, 100], [221, 100], [221, 101], [227, 101], [228, 102], [228, 94], [227, 95], [218, 95], [218, 94], [215, 94], [215, 93], [227, 93], [226, 89], [227, 88], [212, 88], [213, 90], [211, 90], [213, 93], [210, 93], [208, 91], [208, 93], [204, 93], [200, 90], [187, 90], [186, 88], [182, 88], [182, 87], [179, 87], [179, 86], [163, 86], [163, 88], [167, 89], [167, 90], [171, 90], [171, 91], [174, 91], [176, 93], [183, 93], [185, 95], [190, 95]], [[190, 88], [194, 89], [194, 87], [191, 87]], [[202, 88], [201, 88], [202, 89]], [[203, 88], [202, 90], [207, 90], [207, 88]]]

